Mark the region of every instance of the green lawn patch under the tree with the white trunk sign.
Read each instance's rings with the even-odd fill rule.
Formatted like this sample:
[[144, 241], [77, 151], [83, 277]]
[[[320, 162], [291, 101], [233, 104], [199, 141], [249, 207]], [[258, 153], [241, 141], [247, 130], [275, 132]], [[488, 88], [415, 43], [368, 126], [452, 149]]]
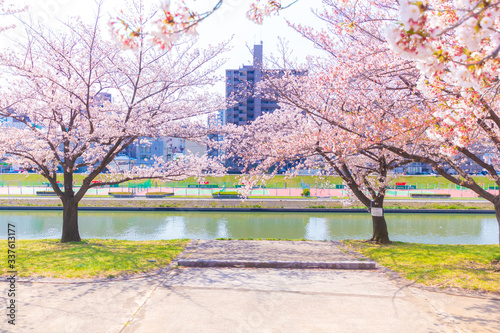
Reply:
[[[500, 292], [498, 245], [376, 245], [344, 241], [401, 276], [427, 286]], [[497, 271], [495, 271], [497, 270]]]

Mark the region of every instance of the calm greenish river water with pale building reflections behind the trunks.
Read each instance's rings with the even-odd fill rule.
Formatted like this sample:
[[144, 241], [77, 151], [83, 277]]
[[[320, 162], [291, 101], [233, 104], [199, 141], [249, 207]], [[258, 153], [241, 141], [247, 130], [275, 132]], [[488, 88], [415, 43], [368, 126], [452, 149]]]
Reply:
[[[387, 214], [391, 240], [431, 244], [496, 244], [494, 215]], [[7, 224], [19, 239], [59, 238], [62, 212], [0, 211], [0, 238]], [[89, 212], [79, 216], [83, 238], [154, 240], [174, 238], [366, 239], [367, 213]]]

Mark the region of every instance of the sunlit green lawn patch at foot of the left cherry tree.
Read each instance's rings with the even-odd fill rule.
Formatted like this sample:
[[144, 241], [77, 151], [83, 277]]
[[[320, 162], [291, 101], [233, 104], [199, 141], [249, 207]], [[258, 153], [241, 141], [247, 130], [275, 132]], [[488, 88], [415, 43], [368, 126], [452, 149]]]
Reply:
[[[55, 239], [17, 240], [17, 273], [22, 277], [106, 278], [147, 272], [168, 265], [188, 242], [88, 239], [61, 244]], [[7, 253], [7, 241], [0, 242], [0, 251]], [[9, 270], [6, 265], [4, 260], [2, 275]]]

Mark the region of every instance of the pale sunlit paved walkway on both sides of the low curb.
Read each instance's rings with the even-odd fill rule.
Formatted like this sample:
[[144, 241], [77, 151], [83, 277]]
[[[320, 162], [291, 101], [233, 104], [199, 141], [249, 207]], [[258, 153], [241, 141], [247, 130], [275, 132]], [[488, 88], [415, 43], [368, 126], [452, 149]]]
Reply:
[[[359, 260], [327, 242], [202, 241], [182, 256]], [[7, 289], [2, 284], [2, 304]], [[1, 332], [500, 332], [499, 299], [430, 292], [377, 269], [180, 267], [17, 289], [17, 325], [2, 316]]]

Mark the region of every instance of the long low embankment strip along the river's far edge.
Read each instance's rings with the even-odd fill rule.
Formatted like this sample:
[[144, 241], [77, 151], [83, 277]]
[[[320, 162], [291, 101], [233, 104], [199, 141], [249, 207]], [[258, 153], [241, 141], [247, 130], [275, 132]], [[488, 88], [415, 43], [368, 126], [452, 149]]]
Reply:
[[[337, 199], [200, 199], [200, 198], [168, 198], [168, 199], [112, 199], [84, 198], [80, 208], [110, 210], [220, 210], [220, 211], [351, 211], [366, 212], [359, 202], [344, 206]], [[40, 207], [62, 208], [58, 198], [1, 198], [0, 209], [37, 209]], [[59, 207], [59, 208], [58, 208]], [[483, 200], [387, 200], [386, 212], [474, 212], [494, 213], [493, 205]]]

